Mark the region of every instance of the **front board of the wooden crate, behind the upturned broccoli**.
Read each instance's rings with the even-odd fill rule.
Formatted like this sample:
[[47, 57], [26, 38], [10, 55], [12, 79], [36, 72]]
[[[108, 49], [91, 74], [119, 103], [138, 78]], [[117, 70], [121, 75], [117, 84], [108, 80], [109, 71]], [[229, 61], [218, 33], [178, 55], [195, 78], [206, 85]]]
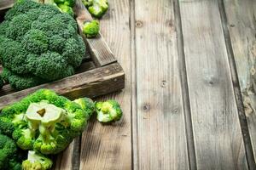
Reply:
[[118, 63], [106, 65], [59, 81], [49, 82], [34, 88], [27, 88], [13, 94], [2, 96], [0, 97], [0, 110], [5, 105], [19, 101], [27, 94], [32, 94], [39, 88], [55, 90], [57, 94], [67, 96], [69, 99], [77, 99], [82, 96], [94, 98], [124, 88], [124, 78], [125, 73]]

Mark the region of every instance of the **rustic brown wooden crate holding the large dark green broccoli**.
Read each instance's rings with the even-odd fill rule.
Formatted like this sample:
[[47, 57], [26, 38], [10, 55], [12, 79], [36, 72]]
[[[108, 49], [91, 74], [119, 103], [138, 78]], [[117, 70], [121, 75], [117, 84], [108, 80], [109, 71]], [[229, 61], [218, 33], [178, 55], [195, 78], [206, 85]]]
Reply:
[[[13, 0], [0, 1], [0, 20], [3, 20], [4, 12], [12, 7], [13, 2]], [[0, 90], [0, 110], [4, 105], [14, 103], [39, 88], [50, 88], [55, 90], [57, 94], [64, 95], [69, 99], [77, 99], [83, 96], [94, 98], [125, 87], [125, 73], [114, 58], [101, 33], [93, 39], [84, 37], [82, 33], [83, 23], [86, 20], [92, 20], [92, 18], [84, 8], [81, 0], [76, 0], [73, 9], [77, 16], [79, 33], [84, 38], [87, 47], [87, 54], [85, 55], [90, 55], [90, 58], [84, 59], [82, 65], [72, 77], [66, 77], [21, 91], [15, 91], [9, 84], [4, 85], [3, 89]]]

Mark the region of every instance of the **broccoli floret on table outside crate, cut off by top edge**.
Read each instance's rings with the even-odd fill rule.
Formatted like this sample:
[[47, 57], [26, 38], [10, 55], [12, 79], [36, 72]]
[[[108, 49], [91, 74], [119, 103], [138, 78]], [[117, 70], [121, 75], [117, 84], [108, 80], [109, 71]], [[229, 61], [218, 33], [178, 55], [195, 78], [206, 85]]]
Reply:
[[83, 0], [82, 2], [90, 14], [96, 18], [101, 18], [108, 10], [108, 0]]

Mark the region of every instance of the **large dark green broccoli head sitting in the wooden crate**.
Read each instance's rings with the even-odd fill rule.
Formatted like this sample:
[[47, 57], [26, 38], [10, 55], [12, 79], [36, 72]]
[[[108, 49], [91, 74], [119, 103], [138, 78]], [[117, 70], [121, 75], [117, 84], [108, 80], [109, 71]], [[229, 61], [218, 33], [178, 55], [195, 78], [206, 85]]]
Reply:
[[73, 75], [85, 54], [77, 30], [73, 17], [53, 5], [15, 3], [0, 25], [4, 80], [20, 90]]

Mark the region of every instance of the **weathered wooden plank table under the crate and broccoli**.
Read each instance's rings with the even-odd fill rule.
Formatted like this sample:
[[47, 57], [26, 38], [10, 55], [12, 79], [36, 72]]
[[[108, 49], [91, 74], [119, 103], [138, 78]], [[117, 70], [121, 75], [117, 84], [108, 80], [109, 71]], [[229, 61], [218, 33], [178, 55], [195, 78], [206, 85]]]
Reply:
[[102, 35], [126, 85], [101, 99], [124, 117], [93, 118], [55, 169], [256, 169], [256, 1], [109, 4]]

